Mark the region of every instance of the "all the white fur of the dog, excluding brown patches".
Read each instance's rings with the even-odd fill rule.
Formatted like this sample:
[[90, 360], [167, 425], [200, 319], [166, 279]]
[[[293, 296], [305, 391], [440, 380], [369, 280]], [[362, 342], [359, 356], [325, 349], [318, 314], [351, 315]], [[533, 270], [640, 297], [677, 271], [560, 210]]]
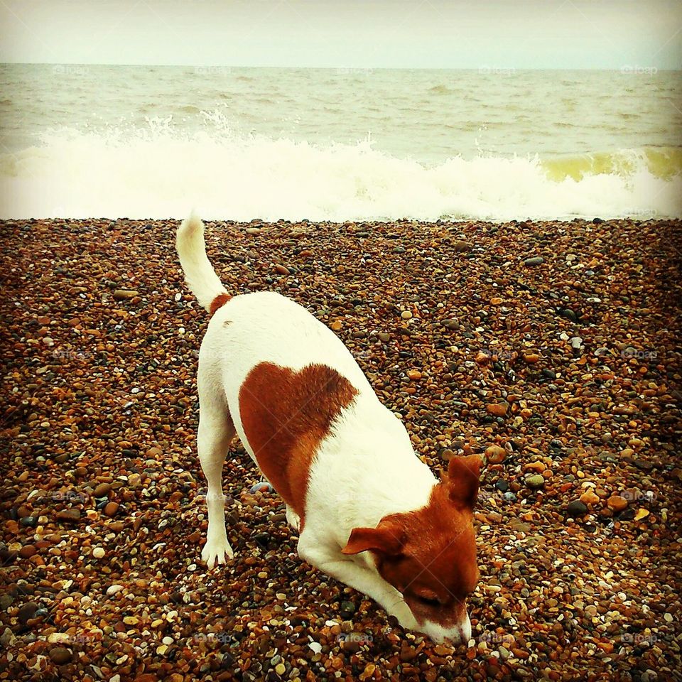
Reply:
[[[190, 288], [208, 308], [225, 290], [205, 256], [203, 225], [198, 218], [192, 216], [180, 227], [178, 251]], [[239, 390], [251, 369], [261, 362], [294, 370], [325, 364], [357, 390], [356, 399], [332, 424], [313, 460], [305, 524], [298, 541], [300, 556], [372, 597], [404, 627], [427, 632], [437, 641], [443, 637], [462, 639], [470, 633], [468, 618], [448, 631], [435, 623], [419, 625], [400, 592], [381, 578], [371, 553], [341, 553], [352, 529], [376, 526], [386, 514], [423, 507], [437, 481], [416, 457], [403, 424], [379, 402], [345, 345], [308, 310], [278, 293], [232, 298], [213, 315], [201, 344], [197, 445], [208, 481], [209, 528], [202, 558], [209, 568], [232, 557], [220, 478], [234, 435], [225, 426], [230, 416], [244, 448], [258, 463], [239, 416]], [[287, 509], [287, 520], [298, 528], [299, 519], [292, 509]]]

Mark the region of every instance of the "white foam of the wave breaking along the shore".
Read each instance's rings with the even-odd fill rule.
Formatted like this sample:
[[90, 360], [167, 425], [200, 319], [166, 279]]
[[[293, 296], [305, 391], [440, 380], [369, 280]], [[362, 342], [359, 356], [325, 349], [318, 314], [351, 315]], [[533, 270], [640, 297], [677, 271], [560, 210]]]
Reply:
[[487, 220], [678, 217], [682, 178], [634, 173], [553, 182], [538, 158], [450, 158], [435, 167], [367, 141], [315, 146], [289, 139], [168, 126], [107, 134], [68, 129], [0, 155], [0, 217]]

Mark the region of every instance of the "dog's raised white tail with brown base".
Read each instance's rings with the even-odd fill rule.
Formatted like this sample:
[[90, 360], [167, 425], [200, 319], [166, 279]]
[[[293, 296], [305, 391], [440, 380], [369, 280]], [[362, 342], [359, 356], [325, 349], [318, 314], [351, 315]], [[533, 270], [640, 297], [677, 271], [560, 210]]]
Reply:
[[206, 255], [204, 224], [195, 213], [178, 227], [175, 249], [178, 250], [180, 265], [183, 266], [185, 281], [190, 290], [212, 315], [229, 301], [230, 296]]

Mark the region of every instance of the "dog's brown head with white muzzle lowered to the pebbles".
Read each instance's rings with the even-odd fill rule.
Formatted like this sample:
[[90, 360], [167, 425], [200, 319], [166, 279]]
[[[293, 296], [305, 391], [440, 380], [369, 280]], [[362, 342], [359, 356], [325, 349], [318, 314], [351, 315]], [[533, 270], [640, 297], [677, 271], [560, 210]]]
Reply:
[[473, 509], [480, 467], [477, 455], [452, 458], [428, 504], [384, 516], [376, 528], [354, 528], [342, 550], [372, 552], [381, 577], [436, 642], [466, 642], [471, 635], [466, 602], [479, 578]]

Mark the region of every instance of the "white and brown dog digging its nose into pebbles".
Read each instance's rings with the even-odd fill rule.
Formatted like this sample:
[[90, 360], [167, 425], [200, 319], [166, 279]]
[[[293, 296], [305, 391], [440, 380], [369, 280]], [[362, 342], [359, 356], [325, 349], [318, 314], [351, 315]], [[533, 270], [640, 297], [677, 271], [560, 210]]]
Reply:
[[197, 448], [208, 482], [209, 568], [232, 558], [222, 465], [239, 435], [286, 502], [298, 553], [364, 592], [408, 629], [466, 642], [478, 580], [472, 510], [481, 460], [453, 458], [440, 482], [414, 453], [345, 345], [278, 293], [232, 298], [194, 215], [176, 246], [212, 315], [199, 353]]

